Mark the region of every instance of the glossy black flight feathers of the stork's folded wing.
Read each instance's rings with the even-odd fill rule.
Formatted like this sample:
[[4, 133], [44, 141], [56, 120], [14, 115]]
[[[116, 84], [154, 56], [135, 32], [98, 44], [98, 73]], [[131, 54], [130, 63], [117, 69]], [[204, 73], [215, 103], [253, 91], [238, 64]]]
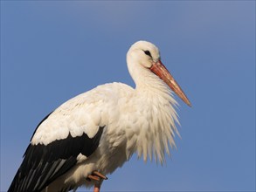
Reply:
[[87, 134], [77, 137], [69, 134], [66, 139], [52, 141], [46, 146], [30, 144], [8, 192], [38, 192], [45, 189], [60, 175], [64, 175], [70, 168], [73, 168], [80, 153], [86, 157], [93, 154], [99, 146], [103, 128], [100, 127], [93, 138], [89, 138]]

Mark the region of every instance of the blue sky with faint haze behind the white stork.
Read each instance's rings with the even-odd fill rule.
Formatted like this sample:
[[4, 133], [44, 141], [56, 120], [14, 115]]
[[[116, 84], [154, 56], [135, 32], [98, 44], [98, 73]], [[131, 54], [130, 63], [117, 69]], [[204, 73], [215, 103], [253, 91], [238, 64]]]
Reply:
[[103, 190], [255, 190], [254, 1], [1, 1], [1, 191], [38, 122], [94, 86], [134, 86], [126, 52], [156, 44], [193, 107], [167, 165], [137, 161]]

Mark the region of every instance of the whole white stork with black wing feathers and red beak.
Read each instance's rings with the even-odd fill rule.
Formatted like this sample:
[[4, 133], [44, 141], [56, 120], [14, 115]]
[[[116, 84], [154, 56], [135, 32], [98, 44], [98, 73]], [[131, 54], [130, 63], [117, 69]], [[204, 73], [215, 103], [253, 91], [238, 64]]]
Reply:
[[[55, 109], [31, 137], [9, 192], [57, 192], [94, 186], [135, 152], [161, 163], [175, 146], [176, 100], [190, 106], [160, 60], [156, 45], [138, 41], [127, 53], [135, 88], [97, 86]], [[172, 90], [172, 91], [171, 91]], [[176, 121], [176, 122], [175, 122]]]

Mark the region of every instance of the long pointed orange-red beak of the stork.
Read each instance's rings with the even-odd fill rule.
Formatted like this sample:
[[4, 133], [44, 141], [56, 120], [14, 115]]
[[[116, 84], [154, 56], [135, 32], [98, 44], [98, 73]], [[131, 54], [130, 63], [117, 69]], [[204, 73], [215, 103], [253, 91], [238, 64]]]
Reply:
[[191, 106], [190, 100], [187, 98], [185, 93], [183, 93], [182, 88], [177, 84], [176, 80], [172, 77], [172, 75], [163, 65], [161, 60], [158, 60], [149, 69], [151, 70], [151, 72], [154, 72], [160, 79], [162, 79], [168, 86], [170, 86], [170, 89], [174, 93], [176, 93], [176, 95], [179, 96], [180, 99], [183, 99], [183, 101], [188, 106]]

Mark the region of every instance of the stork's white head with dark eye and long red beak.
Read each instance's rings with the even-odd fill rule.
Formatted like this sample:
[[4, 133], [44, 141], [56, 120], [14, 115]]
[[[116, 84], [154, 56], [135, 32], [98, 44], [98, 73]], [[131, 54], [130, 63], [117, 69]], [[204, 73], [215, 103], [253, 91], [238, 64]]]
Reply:
[[142, 72], [153, 72], [162, 79], [177, 96], [183, 99], [187, 105], [191, 106], [190, 100], [185, 93], [183, 93], [182, 88], [177, 84], [176, 80], [161, 62], [160, 51], [156, 45], [147, 41], [136, 42], [128, 51], [127, 61], [128, 70], [135, 81], [137, 77], [143, 75]]

